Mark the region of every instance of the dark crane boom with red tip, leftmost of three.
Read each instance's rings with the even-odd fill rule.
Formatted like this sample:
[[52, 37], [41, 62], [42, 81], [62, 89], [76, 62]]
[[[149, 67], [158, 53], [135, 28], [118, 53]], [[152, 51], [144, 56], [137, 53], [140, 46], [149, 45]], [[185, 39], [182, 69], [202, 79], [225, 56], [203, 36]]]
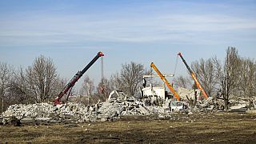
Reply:
[[[74, 84], [76, 82], [78, 82], [78, 79], [82, 77], [82, 74], [85, 74], [85, 72], [90, 68], [90, 66], [92, 66], [94, 64], [94, 62], [96, 62], [98, 60], [98, 58], [104, 56], [104, 54], [100, 51], [98, 52], [98, 54], [94, 57], [93, 60], [90, 61], [90, 63], [82, 70], [82, 71], [78, 71], [77, 74], [74, 75], [74, 77], [70, 80], [70, 82], [63, 88], [63, 90], [58, 94], [58, 98], [56, 98], [54, 100], [54, 105], [58, 105], [61, 104], [61, 98], [70, 90], [72, 90]], [[67, 95], [67, 99], [69, 98], [69, 94]]]

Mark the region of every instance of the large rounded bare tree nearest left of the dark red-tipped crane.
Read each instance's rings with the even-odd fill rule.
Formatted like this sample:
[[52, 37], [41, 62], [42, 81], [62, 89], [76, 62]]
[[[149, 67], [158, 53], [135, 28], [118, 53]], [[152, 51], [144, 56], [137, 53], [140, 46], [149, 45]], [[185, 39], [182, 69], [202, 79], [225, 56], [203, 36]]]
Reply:
[[37, 102], [48, 101], [54, 94], [55, 79], [58, 78], [52, 59], [40, 55], [34, 60], [33, 66], [26, 69], [30, 94], [37, 96]]

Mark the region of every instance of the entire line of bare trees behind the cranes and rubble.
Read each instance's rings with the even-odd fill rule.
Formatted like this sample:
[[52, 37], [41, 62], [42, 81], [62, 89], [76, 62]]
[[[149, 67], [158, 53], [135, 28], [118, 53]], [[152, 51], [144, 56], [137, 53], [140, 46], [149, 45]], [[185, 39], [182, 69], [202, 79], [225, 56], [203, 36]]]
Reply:
[[[256, 95], [256, 62], [251, 58], [242, 58], [238, 50], [229, 47], [224, 62], [216, 56], [200, 59], [191, 63], [191, 69], [210, 96], [219, 96], [228, 109], [230, 96], [246, 98], [250, 104]], [[87, 96], [78, 99], [85, 104], [105, 101], [112, 90], [123, 90], [128, 95], [139, 97], [142, 87], [142, 76], [152, 74], [146, 66], [129, 62], [122, 64], [120, 71], [110, 78], [102, 78], [95, 86], [94, 80], [88, 75], [83, 77], [82, 88], [78, 94]], [[52, 102], [66, 86], [67, 79], [61, 78], [51, 58], [40, 55], [26, 68], [0, 62], [0, 104], [1, 112], [15, 103]], [[193, 81], [188, 77], [174, 78], [174, 86], [194, 88]]]

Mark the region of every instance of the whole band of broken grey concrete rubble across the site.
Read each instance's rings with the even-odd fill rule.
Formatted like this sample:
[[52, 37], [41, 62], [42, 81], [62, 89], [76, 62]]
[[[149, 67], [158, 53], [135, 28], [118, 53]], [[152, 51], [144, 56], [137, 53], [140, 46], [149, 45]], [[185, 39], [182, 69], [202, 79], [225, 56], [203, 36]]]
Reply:
[[[126, 115], [158, 115], [158, 118], [173, 118], [174, 113], [189, 115], [203, 114], [223, 109], [223, 101], [218, 98], [193, 99], [186, 96], [184, 102], [170, 102], [166, 100], [162, 106], [146, 105], [133, 97], [127, 96], [121, 90], [111, 92], [106, 102], [98, 102], [94, 106], [84, 106], [81, 103], [54, 106], [54, 103], [42, 102], [36, 104], [15, 104], [2, 113], [0, 124], [49, 124], [49, 123], [78, 123], [78, 122], [106, 122], [114, 121]], [[247, 110], [249, 102], [244, 100], [230, 101], [230, 112], [246, 112], [253, 114], [256, 102], [251, 106], [254, 110]], [[247, 111], [248, 112], [247, 112]], [[202, 112], [202, 113], [201, 113]], [[177, 119], [179, 120], [179, 119]], [[73, 125], [72, 125], [73, 126]]]

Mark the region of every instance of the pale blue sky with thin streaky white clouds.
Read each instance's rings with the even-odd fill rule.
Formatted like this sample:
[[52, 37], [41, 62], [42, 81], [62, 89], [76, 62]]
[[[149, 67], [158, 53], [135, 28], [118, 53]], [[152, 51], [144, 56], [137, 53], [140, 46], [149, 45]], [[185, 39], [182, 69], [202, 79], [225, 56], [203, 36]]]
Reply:
[[[68, 79], [98, 51], [110, 77], [131, 61], [171, 74], [178, 52], [190, 64], [223, 59], [228, 46], [256, 58], [256, 1], [0, 1], [0, 62], [26, 67], [43, 54]], [[186, 75], [178, 60], [176, 74]], [[97, 81], [100, 61], [86, 74]]]

